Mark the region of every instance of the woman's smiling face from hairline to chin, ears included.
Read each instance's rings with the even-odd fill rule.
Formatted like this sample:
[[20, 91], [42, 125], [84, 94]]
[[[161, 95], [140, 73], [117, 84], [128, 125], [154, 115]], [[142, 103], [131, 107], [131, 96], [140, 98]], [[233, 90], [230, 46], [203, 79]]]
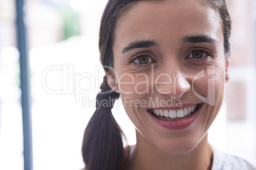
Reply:
[[135, 3], [118, 18], [113, 54], [115, 90], [138, 140], [169, 154], [193, 150], [224, 95], [229, 62], [217, 13], [203, 1]]

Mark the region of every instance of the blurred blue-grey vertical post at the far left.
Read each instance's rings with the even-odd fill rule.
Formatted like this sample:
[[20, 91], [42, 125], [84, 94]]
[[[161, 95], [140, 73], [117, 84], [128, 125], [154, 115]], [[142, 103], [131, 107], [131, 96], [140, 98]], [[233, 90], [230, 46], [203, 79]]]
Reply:
[[24, 0], [16, 1], [17, 44], [20, 52], [20, 80], [22, 90], [22, 122], [24, 138], [24, 170], [33, 169], [31, 91], [28, 56], [27, 28], [24, 23]]

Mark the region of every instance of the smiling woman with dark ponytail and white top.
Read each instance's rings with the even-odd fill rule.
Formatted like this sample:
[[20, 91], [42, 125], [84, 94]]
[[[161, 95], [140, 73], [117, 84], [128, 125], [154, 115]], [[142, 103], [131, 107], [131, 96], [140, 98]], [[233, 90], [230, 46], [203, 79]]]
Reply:
[[120, 96], [137, 143], [123, 147], [113, 102], [97, 105], [83, 136], [86, 169], [256, 169], [207, 138], [230, 77], [230, 32], [224, 0], [110, 0], [97, 100]]

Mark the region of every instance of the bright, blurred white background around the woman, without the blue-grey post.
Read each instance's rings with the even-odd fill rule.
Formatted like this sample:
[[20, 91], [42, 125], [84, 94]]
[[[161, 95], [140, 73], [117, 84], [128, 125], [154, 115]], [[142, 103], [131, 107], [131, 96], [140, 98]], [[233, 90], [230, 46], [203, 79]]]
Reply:
[[[97, 47], [106, 0], [27, 0], [32, 154], [35, 170], [81, 169], [83, 131], [95, 108], [103, 69]], [[256, 1], [229, 0], [231, 81], [209, 131], [213, 147], [256, 159]], [[0, 0], [0, 169], [24, 169], [15, 0]], [[129, 145], [134, 126], [121, 101], [113, 114]]]

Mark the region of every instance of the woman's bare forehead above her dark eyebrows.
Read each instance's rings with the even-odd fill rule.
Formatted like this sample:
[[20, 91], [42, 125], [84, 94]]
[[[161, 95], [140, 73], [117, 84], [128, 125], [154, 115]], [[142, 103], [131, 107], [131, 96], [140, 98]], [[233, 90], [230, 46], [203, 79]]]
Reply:
[[118, 19], [114, 48], [134, 40], [177, 41], [201, 35], [223, 41], [220, 17], [202, 1], [139, 1]]

